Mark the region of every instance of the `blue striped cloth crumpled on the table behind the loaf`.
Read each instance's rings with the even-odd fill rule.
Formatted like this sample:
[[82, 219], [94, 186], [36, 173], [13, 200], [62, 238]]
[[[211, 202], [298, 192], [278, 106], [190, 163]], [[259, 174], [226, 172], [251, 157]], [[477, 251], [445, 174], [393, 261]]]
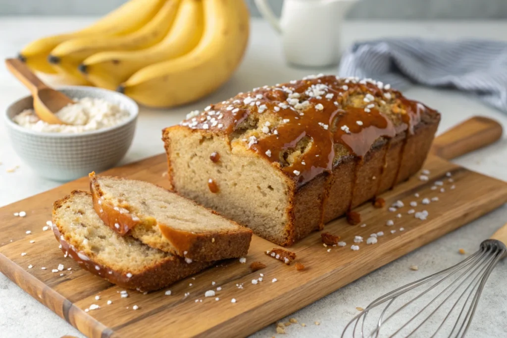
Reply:
[[412, 84], [451, 87], [507, 112], [507, 43], [392, 39], [346, 51], [341, 77], [372, 78], [404, 90]]

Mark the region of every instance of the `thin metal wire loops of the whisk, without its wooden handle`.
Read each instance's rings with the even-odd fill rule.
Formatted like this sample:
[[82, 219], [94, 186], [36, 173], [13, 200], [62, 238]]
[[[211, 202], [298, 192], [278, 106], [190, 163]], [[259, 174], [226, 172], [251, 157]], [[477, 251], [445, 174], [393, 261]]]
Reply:
[[[380, 336], [381, 329], [382, 331], [385, 331], [383, 329], [385, 328], [387, 322], [391, 321], [393, 317], [399, 315], [401, 311], [405, 309], [409, 311], [409, 313], [412, 312], [412, 310], [409, 310], [408, 307], [411, 305], [416, 306], [416, 302], [425, 295], [426, 297], [432, 297], [430, 302], [427, 303], [421, 310], [418, 310], [417, 313], [412, 315], [407, 322], [402, 322], [402, 324], [404, 324], [400, 328], [392, 327], [390, 324], [390, 330], [395, 331], [392, 334], [386, 332], [388, 333], [388, 336], [393, 337], [407, 330], [411, 331], [408, 335], [404, 336], [412, 336], [416, 331], [421, 329], [423, 325], [429, 323], [430, 318], [431, 323], [439, 324], [436, 330], [431, 334], [431, 337], [435, 337], [444, 327], [450, 327], [452, 325], [452, 322], [450, 322], [451, 318], [453, 321], [455, 320], [455, 322], [452, 326], [449, 337], [464, 336], [470, 326], [470, 323], [472, 323], [472, 319], [479, 304], [479, 299], [489, 275], [493, 271], [497, 262], [505, 255], [506, 251], [507, 248], [500, 241], [486, 240], [482, 242], [479, 251], [470, 255], [460, 263], [441, 272], [434, 273], [430, 276], [399, 287], [375, 299], [375, 301], [370, 303], [361, 313], [354, 316], [354, 318], [345, 326], [341, 337], [343, 338], [345, 336], [347, 329], [352, 328], [353, 337], [355, 337], [356, 331], [360, 329], [359, 332], [361, 337], [378, 338]], [[446, 286], [446, 284], [444, 284], [446, 282], [450, 282], [450, 284]], [[388, 309], [395, 306], [394, 302], [399, 299], [400, 296], [404, 295], [407, 297], [408, 295], [406, 294], [408, 292], [416, 290], [418, 287], [423, 285], [428, 285], [428, 287], [424, 290], [417, 290], [417, 294], [412, 296], [408, 302], [405, 302], [397, 308], [393, 308], [394, 311], [392, 313], [388, 312]], [[439, 292], [441, 288], [444, 289], [436, 296], [433, 297], [433, 294], [428, 294], [428, 292], [439, 286], [440, 288], [436, 290], [437, 292]], [[457, 297], [457, 299], [454, 301], [455, 297]], [[384, 308], [379, 315], [376, 325], [371, 328], [372, 330], [367, 335], [365, 335], [365, 330], [368, 331], [366, 321], [369, 313], [381, 305], [384, 306]], [[444, 309], [444, 305], [446, 308], [450, 307], [449, 312], [442, 321], [439, 319], [435, 321], [434, 318], [437, 318], [435, 315]], [[428, 314], [429, 311], [431, 312]], [[459, 313], [457, 311], [459, 311]], [[417, 322], [415, 322], [416, 319]], [[359, 321], [362, 322], [359, 324]], [[354, 325], [352, 325], [353, 322], [355, 322]], [[446, 323], [449, 325], [446, 325]], [[414, 326], [416, 327], [412, 329]]]

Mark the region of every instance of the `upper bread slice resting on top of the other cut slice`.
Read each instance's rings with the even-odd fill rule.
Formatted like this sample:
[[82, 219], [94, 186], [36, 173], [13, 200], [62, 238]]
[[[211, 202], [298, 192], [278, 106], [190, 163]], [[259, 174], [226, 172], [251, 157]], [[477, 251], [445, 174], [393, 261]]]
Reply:
[[119, 234], [198, 261], [245, 256], [252, 231], [162, 187], [90, 175], [93, 206]]

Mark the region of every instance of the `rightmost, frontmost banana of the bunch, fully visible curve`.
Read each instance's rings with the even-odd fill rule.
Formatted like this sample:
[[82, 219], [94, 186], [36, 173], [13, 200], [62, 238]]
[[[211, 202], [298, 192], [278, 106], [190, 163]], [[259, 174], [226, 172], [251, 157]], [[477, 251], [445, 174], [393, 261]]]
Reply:
[[194, 50], [140, 69], [118, 90], [141, 104], [168, 107], [195, 101], [224, 84], [246, 48], [248, 10], [243, 0], [204, 0], [203, 8], [204, 34]]

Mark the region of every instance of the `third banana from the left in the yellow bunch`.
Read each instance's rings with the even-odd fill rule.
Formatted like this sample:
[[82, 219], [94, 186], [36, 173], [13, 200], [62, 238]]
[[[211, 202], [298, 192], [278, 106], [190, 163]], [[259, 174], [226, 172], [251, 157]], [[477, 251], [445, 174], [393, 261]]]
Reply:
[[137, 70], [194, 49], [201, 39], [203, 24], [202, 0], [183, 0], [171, 29], [160, 43], [138, 51], [93, 54], [83, 61], [80, 70], [95, 86], [116, 90]]

